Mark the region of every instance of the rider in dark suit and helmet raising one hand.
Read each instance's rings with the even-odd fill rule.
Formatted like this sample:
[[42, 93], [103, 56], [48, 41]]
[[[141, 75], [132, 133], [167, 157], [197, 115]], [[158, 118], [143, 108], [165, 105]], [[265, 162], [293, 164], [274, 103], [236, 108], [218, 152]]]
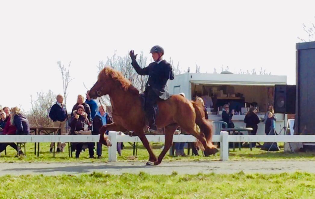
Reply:
[[137, 55], [131, 50], [129, 55], [131, 57], [131, 65], [135, 68], [139, 75], [149, 75], [146, 82], [146, 90], [144, 91], [145, 100], [145, 112], [149, 122], [149, 131], [157, 132], [155, 125], [156, 109], [154, 105], [158, 98], [166, 100], [169, 98], [169, 94], [165, 91], [166, 82], [168, 79], [174, 79], [172, 66], [165, 60], [163, 60], [164, 49], [161, 46], [153, 46], [150, 50], [154, 62], [149, 66], [141, 68], [137, 61]]

